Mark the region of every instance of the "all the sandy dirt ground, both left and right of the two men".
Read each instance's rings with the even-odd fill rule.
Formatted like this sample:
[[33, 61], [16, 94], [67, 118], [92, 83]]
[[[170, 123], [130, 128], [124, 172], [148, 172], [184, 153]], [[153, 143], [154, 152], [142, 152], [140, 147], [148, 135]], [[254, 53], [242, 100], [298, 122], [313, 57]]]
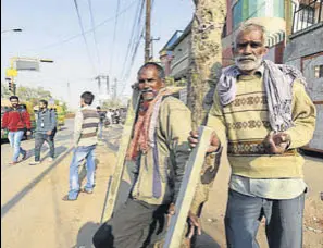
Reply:
[[[72, 153], [57, 164], [28, 166], [20, 163], [4, 168], [1, 171], [1, 247], [90, 248], [101, 219], [108, 179], [116, 162], [120, 135], [121, 127], [115, 127], [109, 133], [109, 141], [98, 146], [95, 193], [80, 194], [77, 201], [61, 200], [69, 190]], [[80, 175], [85, 176], [84, 170]], [[228, 175], [228, 164], [223, 163], [202, 214], [204, 231], [219, 244], [211, 247], [226, 247], [223, 216]], [[319, 195], [323, 191], [323, 160], [307, 157], [305, 175], [309, 193], [303, 247], [323, 247], [323, 233], [320, 232], [323, 231], [323, 201]], [[268, 247], [263, 230], [262, 225], [258, 236], [262, 248]]]

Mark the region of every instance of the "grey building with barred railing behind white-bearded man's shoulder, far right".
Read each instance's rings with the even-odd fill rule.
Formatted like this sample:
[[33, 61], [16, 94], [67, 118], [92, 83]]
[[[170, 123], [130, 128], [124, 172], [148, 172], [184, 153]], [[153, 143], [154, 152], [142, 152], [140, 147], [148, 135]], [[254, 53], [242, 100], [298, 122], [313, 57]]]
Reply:
[[300, 1], [291, 30], [284, 62], [302, 72], [318, 112], [313, 139], [305, 149], [323, 152], [323, 1]]

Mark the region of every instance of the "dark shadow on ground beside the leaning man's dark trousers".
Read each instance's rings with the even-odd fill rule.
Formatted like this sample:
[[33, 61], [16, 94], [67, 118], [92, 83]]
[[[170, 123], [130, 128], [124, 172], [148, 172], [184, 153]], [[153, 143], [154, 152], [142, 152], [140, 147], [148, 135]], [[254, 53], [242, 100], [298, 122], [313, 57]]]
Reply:
[[92, 237], [100, 224], [95, 222], [85, 223], [77, 233], [76, 245], [72, 248], [91, 248]]

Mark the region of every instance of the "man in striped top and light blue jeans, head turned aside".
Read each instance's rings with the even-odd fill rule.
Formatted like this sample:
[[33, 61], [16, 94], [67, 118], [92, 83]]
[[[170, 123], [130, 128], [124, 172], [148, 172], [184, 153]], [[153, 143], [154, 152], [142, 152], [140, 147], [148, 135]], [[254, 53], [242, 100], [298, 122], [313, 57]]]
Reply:
[[80, 95], [80, 110], [74, 120], [74, 154], [70, 164], [70, 191], [63, 200], [76, 200], [80, 191], [78, 166], [86, 160], [87, 183], [82, 191], [91, 194], [95, 187], [95, 149], [98, 142], [100, 116], [90, 108], [95, 96], [85, 91]]

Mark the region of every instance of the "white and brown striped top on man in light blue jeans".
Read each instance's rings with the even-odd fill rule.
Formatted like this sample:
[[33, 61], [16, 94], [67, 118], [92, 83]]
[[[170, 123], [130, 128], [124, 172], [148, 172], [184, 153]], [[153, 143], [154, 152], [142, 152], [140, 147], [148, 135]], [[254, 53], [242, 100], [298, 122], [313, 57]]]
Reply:
[[99, 122], [99, 114], [89, 106], [85, 106], [79, 111], [77, 111], [74, 124], [75, 147], [88, 147], [98, 142], [97, 135]]

